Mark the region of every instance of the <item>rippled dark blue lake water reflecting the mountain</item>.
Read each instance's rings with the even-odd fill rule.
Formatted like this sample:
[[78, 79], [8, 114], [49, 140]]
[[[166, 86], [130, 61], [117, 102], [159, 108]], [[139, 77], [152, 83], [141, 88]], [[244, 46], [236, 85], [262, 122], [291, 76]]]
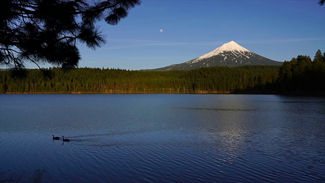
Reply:
[[42, 182], [324, 182], [325, 98], [0, 95], [0, 181], [37, 169]]

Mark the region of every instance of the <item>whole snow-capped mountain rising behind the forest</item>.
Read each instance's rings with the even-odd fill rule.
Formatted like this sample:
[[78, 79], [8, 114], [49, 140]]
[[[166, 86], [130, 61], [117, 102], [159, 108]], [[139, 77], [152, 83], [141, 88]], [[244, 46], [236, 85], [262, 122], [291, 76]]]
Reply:
[[171, 70], [191, 70], [201, 67], [214, 66], [246, 66], [246, 65], [282, 65], [269, 58], [263, 57], [248, 49], [240, 46], [234, 41], [225, 43], [210, 53], [204, 54], [198, 58], [189, 60], [186, 63], [175, 64], [164, 68], [151, 69], [146, 71], [171, 71]]

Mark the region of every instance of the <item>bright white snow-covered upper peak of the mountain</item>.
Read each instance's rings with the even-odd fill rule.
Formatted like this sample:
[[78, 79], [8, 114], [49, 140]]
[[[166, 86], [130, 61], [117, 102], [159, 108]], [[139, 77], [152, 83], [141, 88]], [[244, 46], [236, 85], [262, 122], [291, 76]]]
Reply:
[[218, 47], [217, 49], [211, 51], [210, 53], [207, 53], [207, 54], [204, 54], [202, 56], [200, 56], [199, 58], [197, 59], [204, 59], [204, 58], [209, 58], [209, 57], [212, 57], [212, 56], [215, 56], [215, 55], [218, 55], [224, 51], [238, 51], [238, 52], [251, 52], [249, 51], [248, 49], [240, 46], [239, 44], [237, 44], [235, 41], [231, 41], [229, 43], [225, 43], [223, 44], [222, 46]]

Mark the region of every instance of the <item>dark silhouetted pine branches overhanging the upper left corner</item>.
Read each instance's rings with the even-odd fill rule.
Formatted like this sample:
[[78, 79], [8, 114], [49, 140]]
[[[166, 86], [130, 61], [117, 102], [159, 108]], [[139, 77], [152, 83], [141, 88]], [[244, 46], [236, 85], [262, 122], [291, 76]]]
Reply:
[[[75, 68], [78, 43], [106, 43], [96, 22], [116, 25], [141, 0], [1, 0], [0, 66], [24, 69], [25, 62]], [[39, 67], [40, 68], [40, 67]]]

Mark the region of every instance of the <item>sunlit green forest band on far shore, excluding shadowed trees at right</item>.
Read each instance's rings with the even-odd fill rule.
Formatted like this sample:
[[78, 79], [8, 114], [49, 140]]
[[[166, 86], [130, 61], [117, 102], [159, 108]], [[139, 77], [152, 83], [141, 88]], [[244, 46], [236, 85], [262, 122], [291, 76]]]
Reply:
[[[190, 71], [121, 69], [28, 70], [26, 77], [0, 71], [0, 93], [200, 93], [232, 92], [273, 84], [279, 66], [211, 67]], [[266, 88], [265, 88], [266, 89]]]

